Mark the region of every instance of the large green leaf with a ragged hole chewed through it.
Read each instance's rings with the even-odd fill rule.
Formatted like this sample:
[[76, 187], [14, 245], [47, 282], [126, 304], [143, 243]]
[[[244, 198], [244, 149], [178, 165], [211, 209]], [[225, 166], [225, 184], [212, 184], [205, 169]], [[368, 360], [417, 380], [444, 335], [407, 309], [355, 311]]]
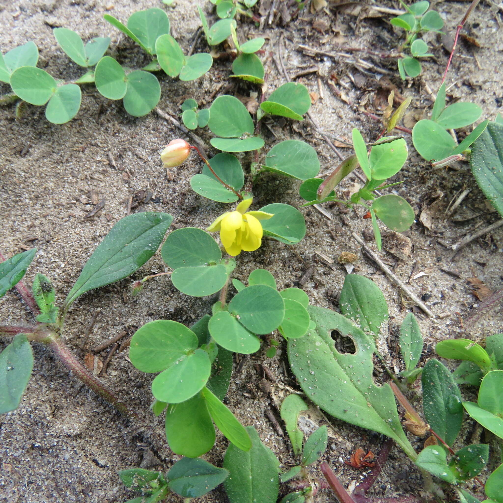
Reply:
[[[342, 314], [315, 306], [307, 310], [316, 329], [288, 341], [290, 367], [306, 396], [338, 419], [391, 437], [415, 458], [389, 384], [377, 386], [372, 379], [374, 337]], [[330, 336], [334, 330], [353, 339], [355, 354], [335, 348]]]

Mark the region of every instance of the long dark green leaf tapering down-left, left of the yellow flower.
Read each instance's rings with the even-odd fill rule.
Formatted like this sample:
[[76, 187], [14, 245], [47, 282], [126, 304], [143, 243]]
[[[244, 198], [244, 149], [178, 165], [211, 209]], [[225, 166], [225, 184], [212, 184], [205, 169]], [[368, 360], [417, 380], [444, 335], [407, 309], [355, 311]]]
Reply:
[[155, 253], [172, 221], [171, 215], [155, 212], [135, 213], [119, 220], [82, 269], [64, 306], [89, 290], [137, 271]]

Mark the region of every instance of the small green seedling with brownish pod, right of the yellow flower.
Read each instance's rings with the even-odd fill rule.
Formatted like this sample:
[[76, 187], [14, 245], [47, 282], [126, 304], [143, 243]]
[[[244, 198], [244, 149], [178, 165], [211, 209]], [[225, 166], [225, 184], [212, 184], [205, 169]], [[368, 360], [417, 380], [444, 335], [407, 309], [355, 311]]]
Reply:
[[[377, 219], [381, 220], [388, 228], [396, 232], [407, 230], [414, 222], [414, 211], [411, 206], [400, 196], [389, 194], [375, 197], [372, 193], [377, 189], [384, 189], [395, 184], [381, 186], [387, 178], [396, 175], [405, 163], [408, 155], [407, 144], [403, 138], [384, 137], [374, 143], [367, 152], [367, 145], [358, 129], [353, 129], [353, 145], [355, 155], [345, 159], [323, 181], [319, 178], [306, 180], [299, 188], [300, 196], [309, 201], [303, 206], [323, 203], [326, 201], [339, 201], [347, 206], [361, 204], [367, 208], [377, 247], [382, 246], [381, 232]], [[367, 177], [364, 187], [351, 196], [350, 201], [341, 201], [336, 197], [333, 189], [360, 164]], [[362, 200], [366, 201], [365, 203]], [[369, 202], [367, 202], [369, 201]]]

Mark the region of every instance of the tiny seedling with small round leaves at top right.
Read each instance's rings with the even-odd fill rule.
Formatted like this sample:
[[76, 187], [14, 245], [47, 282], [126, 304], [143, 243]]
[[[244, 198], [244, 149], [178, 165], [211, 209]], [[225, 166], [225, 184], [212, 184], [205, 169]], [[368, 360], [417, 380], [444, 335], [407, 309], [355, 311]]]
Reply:
[[403, 28], [406, 33], [405, 42], [400, 50], [407, 48], [411, 56], [398, 59], [398, 71], [402, 80], [405, 80], [407, 76], [416, 77], [421, 73], [420, 58], [433, 56], [429, 52], [428, 44], [418, 36], [429, 31], [442, 33], [440, 30], [444, 26], [444, 21], [437, 11], [428, 10], [430, 2], [426, 0], [420, 0], [410, 6], [400, 0], [400, 4], [407, 12], [393, 18], [391, 24]]

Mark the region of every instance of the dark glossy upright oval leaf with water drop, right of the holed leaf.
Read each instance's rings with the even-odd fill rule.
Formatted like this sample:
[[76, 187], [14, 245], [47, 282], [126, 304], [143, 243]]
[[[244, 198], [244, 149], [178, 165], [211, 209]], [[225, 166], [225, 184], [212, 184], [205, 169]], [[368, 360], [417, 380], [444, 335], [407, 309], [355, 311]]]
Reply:
[[426, 421], [444, 442], [452, 446], [461, 429], [461, 394], [449, 370], [432, 358], [421, 375]]

